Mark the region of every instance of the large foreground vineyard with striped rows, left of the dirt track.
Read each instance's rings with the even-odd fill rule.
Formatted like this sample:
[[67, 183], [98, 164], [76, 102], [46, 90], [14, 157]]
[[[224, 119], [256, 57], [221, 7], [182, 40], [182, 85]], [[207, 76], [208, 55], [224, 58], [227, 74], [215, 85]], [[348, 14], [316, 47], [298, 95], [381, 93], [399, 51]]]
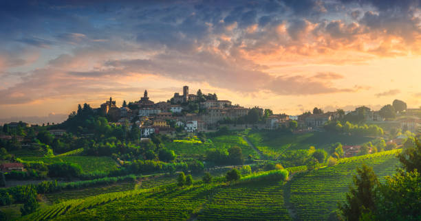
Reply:
[[215, 218], [213, 209], [225, 211], [230, 205], [235, 207], [230, 212], [220, 212], [219, 220], [288, 219], [282, 200], [283, 181], [244, 181], [234, 185], [198, 182], [183, 188], [166, 185], [100, 194], [43, 207], [22, 220], [186, 220], [196, 216], [206, 220]]

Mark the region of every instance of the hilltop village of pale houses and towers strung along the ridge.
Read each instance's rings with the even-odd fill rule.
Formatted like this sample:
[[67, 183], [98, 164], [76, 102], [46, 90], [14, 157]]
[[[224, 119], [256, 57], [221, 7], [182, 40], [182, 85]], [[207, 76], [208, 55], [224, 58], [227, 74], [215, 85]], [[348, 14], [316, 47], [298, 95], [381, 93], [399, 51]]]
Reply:
[[[206, 95], [200, 89], [192, 94], [189, 93], [188, 86], [184, 86], [182, 94], [174, 93], [166, 102], [153, 102], [145, 90], [143, 97], [136, 102], [127, 104], [124, 101], [118, 107], [116, 101], [110, 97], [94, 111], [107, 116], [110, 122], [116, 124], [135, 123], [140, 128], [142, 137], [149, 137], [153, 133], [173, 136], [175, 132], [209, 132], [220, 126], [235, 130], [275, 130], [292, 126], [295, 132], [308, 132], [320, 130], [327, 121], [344, 117], [349, 121], [385, 121], [389, 117], [387, 108], [385, 109], [374, 111], [361, 106], [353, 111], [338, 109], [324, 113], [323, 110], [314, 108], [312, 112], [290, 116], [285, 113], [274, 114], [272, 110], [258, 106], [246, 108], [229, 100], [218, 100], [215, 93]], [[296, 126], [291, 125], [295, 122]], [[418, 121], [413, 119], [404, 119], [400, 123], [402, 128], [411, 131], [418, 127]]]

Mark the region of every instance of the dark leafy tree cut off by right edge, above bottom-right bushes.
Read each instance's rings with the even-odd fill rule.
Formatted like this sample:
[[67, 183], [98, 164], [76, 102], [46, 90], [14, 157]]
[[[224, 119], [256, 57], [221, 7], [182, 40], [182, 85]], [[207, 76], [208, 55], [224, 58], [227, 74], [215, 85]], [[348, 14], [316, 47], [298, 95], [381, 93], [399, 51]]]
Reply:
[[421, 172], [421, 143], [415, 139], [415, 144], [415, 147], [406, 148], [398, 155], [400, 163], [408, 172]]

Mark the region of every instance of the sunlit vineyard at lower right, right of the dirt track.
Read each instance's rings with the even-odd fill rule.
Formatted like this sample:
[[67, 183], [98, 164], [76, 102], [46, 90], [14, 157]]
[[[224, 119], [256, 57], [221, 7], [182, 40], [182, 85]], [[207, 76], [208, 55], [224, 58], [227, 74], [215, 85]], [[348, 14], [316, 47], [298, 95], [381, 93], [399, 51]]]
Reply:
[[348, 187], [356, 167], [365, 163], [374, 168], [380, 177], [394, 174], [398, 159], [396, 150], [370, 155], [355, 156], [332, 167], [324, 167], [313, 172], [295, 174], [288, 182], [290, 203], [299, 220], [327, 220], [330, 213], [337, 209], [338, 202], [345, 200]]

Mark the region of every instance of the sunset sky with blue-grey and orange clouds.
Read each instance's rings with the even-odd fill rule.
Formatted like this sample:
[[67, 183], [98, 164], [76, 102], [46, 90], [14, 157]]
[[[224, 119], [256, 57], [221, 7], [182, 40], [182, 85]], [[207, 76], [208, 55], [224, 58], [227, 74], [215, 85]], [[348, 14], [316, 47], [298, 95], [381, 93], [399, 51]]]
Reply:
[[420, 0], [1, 1], [0, 121], [217, 93], [298, 115], [421, 106]]

